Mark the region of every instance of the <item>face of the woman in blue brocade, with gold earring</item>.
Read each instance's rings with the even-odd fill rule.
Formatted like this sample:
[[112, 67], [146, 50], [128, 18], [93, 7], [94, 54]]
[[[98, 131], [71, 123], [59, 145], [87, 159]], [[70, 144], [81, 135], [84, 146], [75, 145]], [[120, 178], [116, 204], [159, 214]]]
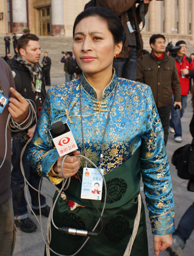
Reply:
[[115, 44], [106, 21], [91, 16], [76, 26], [72, 49], [84, 74], [93, 75], [112, 72], [114, 54], [122, 50], [122, 42]]

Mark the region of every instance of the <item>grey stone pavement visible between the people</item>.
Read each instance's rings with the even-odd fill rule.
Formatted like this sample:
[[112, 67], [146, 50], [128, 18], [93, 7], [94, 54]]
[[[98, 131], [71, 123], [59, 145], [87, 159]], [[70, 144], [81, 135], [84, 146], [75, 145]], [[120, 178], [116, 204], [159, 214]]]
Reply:
[[[64, 82], [65, 78], [52, 78], [51, 83], [52, 86], [58, 83]], [[47, 87], [48, 88], [48, 87]], [[183, 142], [177, 143], [174, 141], [173, 134], [169, 133], [168, 142], [167, 142], [167, 155], [168, 160], [171, 165], [171, 176], [172, 176], [172, 183], [173, 183], [173, 191], [174, 191], [174, 198], [175, 198], [175, 226], [178, 226], [178, 223], [184, 214], [185, 210], [193, 203], [193, 196], [192, 192], [187, 191], [187, 180], [182, 180], [177, 176], [177, 171], [175, 166], [171, 164], [171, 158], [174, 151], [187, 143], [191, 142], [191, 135], [189, 133], [189, 122], [192, 117], [192, 107], [190, 101], [190, 96], [188, 96], [188, 103], [187, 108], [185, 110], [184, 116], [182, 118], [182, 129], [183, 129]], [[54, 195], [55, 187], [47, 179], [43, 179], [42, 182], [42, 192], [50, 194], [51, 196]], [[144, 200], [144, 194], [142, 193], [142, 197]], [[47, 204], [51, 205], [51, 198], [46, 196]], [[153, 249], [153, 234], [151, 232], [151, 225], [150, 220], [148, 217], [148, 210], [146, 209], [147, 215], [147, 233], [148, 233], [148, 243], [149, 243], [149, 256], [154, 256], [154, 249]], [[35, 217], [30, 213], [29, 216], [32, 220], [37, 223]], [[38, 224], [37, 224], [38, 225]], [[47, 227], [47, 218], [42, 217], [42, 225], [46, 232]], [[186, 243], [184, 249], [185, 256], [192, 256], [193, 253], [193, 244], [194, 244], [194, 232], [192, 232], [189, 240]], [[0, 253], [1, 254], [1, 253]], [[33, 233], [24, 233], [17, 228], [16, 233], [16, 244], [13, 256], [43, 256], [44, 255], [44, 242], [41, 235], [40, 226], [38, 229]], [[168, 256], [169, 254], [166, 251], [160, 252], [160, 256]], [[92, 255], [91, 255], [92, 256]], [[95, 255], [97, 256], [97, 255]], [[138, 256], [138, 255], [137, 255]]]

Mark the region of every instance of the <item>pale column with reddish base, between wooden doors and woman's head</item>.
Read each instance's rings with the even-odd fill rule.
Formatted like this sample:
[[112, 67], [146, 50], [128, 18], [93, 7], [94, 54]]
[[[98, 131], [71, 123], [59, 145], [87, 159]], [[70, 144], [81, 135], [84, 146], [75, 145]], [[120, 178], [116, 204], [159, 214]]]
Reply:
[[63, 0], [51, 0], [52, 35], [64, 35]]

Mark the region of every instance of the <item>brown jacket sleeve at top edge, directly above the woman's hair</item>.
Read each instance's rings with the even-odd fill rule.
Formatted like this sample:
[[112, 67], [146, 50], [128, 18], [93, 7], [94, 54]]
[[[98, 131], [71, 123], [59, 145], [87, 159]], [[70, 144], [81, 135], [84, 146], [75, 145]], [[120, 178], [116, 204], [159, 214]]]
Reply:
[[136, 0], [97, 0], [96, 4], [120, 16], [134, 6]]

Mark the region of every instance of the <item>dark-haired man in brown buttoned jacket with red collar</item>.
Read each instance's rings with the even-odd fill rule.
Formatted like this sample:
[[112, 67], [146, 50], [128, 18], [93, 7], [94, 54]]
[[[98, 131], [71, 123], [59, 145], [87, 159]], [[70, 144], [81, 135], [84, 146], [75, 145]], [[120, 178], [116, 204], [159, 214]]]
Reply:
[[164, 143], [168, 139], [169, 116], [171, 113], [172, 90], [174, 107], [181, 106], [181, 88], [175, 59], [165, 53], [165, 37], [154, 34], [150, 37], [152, 52], [139, 59], [137, 64], [138, 82], [148, 84], [154, 96], [158, 114], [164, 130]]

